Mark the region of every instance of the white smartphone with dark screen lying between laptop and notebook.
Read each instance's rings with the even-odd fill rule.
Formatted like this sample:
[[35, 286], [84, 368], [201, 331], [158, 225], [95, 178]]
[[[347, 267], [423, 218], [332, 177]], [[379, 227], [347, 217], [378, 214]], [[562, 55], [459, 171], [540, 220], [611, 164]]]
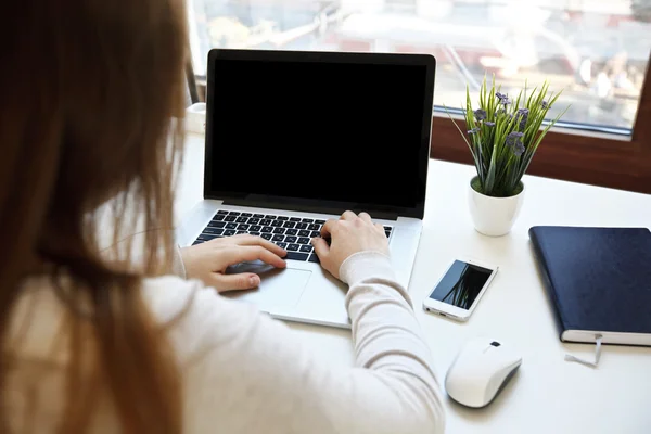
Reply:
[[468, 321], [497, 270], [496, 266], [476, 260], [455, 259], [423, 301], [423, 309]]

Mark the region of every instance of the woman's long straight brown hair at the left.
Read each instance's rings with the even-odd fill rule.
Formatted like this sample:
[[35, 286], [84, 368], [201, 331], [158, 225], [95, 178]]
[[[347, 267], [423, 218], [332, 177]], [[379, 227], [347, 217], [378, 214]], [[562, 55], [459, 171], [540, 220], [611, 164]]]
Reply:
[[71, 357], [56, 430], [87, 431], [94, 396], [104, 393], [123, 432], [178, 433], [179, 371], [139, 291], [144, 277], [168, 271], [170, 231], [144, 234], [143, 268], [129, 258], [120, 266], [100, 254], [93, 212], [111, 201], [116, 227], [173, 226], [184, 3], [46, 0], [2, 9], [0, 431], [12, 429], [7, 381], [20, 366], [12, 314], [24, 282], [40, 276], [66, 312]]

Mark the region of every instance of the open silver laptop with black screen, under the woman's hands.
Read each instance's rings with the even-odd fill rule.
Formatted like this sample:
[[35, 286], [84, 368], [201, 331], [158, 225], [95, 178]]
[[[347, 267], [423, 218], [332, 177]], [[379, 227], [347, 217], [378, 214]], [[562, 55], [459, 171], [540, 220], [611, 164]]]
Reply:
[[350, 328], [347, 286], [310, 245], [343, 212], [384, 226], [397, 279], [413, 267], [425, 204], [435, 59], [215, 49], [208, 54], [204, 200], [177, 229], [181, 245], [252, 233], [288, 267], [232, 267], [258, 289], [226, 296], [270, 316]]

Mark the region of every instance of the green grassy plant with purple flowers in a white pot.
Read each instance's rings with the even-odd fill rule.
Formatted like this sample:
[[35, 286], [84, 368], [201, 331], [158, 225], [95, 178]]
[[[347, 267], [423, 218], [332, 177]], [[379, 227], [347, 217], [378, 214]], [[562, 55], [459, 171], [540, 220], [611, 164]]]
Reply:
[[549, 129], [567, 111], [540, 129], [547, 112], [561, 92], [550, 93], [546, 81], [527, 94], [526, 85], [510, 99], [486, 79], [480, 89], [480, 105], [473, 110], [465, 92], [465, 132], [452, 119], [468, 144], [477, 175], [469, 182], [470, 214], [475, 229], [490, 237], [510, 232], [524, 196], [522, 176]]

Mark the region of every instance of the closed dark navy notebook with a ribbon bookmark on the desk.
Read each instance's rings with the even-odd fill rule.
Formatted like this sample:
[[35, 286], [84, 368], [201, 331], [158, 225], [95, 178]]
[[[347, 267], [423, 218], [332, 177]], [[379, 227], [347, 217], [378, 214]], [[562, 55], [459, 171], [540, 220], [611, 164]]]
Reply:
[[651, 346], [651, 232], [535, 226], [529, 238], [561, 341]]

